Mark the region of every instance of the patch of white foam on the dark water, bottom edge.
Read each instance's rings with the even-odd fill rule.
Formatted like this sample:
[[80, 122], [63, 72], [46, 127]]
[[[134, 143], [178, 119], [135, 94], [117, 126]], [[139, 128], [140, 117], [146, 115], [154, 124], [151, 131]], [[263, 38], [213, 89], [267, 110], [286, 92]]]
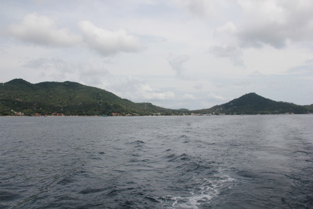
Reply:
[[[212, 178], [200, 178], [200, 176], [193, 176], [198, 187], [195, 187], [190, 192], [190, 196], [166, 196], [166, 199], [174, 201], [170, 208], [198, 208], [200, 204], [210, 203], [210, 200], [221, 192], [221, 188], [225, 183], [234, 182], [234, 178], [230, 178], [223, 173], [218, 173]], [[232, 185], [225, 189], [231, 189]]]

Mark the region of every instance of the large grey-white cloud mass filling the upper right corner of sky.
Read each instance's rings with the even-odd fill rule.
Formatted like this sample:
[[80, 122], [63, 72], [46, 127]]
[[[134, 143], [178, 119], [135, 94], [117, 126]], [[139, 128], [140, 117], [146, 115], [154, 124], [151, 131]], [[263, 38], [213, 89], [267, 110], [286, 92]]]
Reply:
[[214, 30], [221, 44], [209, 49], [218, 57], [243, 65], [242, 51], [265, 45], [282, 49], [289, 43], [313, 41], [313, 1], [236, 0], [245, 22], [232, 20]]

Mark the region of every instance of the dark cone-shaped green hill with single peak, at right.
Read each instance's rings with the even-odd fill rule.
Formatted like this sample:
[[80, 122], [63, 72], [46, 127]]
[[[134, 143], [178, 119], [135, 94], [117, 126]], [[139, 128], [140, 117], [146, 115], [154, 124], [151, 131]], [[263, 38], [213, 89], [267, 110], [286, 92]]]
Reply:
[[225, 104], [193, 112], [201, 114], [306, 114], [308, 111], [306, 107], [297, 104], [276, 102], [256, 93], [248, 93]]

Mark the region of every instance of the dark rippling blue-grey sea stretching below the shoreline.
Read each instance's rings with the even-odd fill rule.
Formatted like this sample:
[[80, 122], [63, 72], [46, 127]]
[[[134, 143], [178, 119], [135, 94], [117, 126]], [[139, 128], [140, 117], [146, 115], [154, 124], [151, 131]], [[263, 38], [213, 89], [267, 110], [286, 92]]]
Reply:
[[0, 117], [0, 208], [313, 208], [313, 115]]

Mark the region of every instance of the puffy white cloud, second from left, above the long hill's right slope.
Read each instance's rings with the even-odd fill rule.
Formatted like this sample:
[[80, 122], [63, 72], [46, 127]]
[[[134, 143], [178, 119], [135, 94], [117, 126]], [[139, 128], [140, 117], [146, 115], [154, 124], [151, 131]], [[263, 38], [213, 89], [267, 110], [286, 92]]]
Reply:
[[122, 29], [109, 31], [89, 21], [81, 21], [78, 26], [88, 47], [102, 56], [110, 56], [118, 52], [138, 52], [143, 49], [138, 38]]

